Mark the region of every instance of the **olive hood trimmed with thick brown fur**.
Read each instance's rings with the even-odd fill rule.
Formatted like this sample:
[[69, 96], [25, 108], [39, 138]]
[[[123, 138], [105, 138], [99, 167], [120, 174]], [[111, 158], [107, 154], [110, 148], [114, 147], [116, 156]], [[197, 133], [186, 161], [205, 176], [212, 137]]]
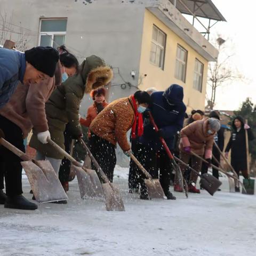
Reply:
[[113, 79], [113, 70], [100, 57], [91, 55], [80, 66], [80, 75], [84, 83], [84, 92], [90, 93]]

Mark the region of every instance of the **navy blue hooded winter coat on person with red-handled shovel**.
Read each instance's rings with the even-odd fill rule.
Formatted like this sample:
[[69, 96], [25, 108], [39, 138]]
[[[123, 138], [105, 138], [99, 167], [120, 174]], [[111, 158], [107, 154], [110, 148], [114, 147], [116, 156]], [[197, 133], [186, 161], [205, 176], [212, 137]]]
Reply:
[[[183, 103], [183, 88], [177, 84], [171, 85], [165, 92], [151, 94], [149, 110], [153, 115], [158, 129], [163, 131], [163, 138], [167, 146], [174, 148], [174, 137], [183, 127], [186, 106]], [[144, 133], [139, 139], [140, 143], [160, 150], [162, 144], [150, 121], [145, 118]]]

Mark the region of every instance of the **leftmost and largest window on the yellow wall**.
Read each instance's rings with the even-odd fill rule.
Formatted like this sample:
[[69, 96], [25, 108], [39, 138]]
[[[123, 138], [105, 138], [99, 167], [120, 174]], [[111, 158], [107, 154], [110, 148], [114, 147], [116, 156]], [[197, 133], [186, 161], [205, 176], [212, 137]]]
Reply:
[[166, 35], [163, 31], [153, 26], [150, 62], [162, 69], [164, 69], [165, 41]]

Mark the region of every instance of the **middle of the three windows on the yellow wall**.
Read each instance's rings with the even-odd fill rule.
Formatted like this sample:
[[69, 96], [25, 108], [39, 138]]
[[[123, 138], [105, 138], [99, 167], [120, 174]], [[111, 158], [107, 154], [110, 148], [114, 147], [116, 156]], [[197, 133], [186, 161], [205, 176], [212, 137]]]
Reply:
[[187, 57], [187, 50], [178, 45], [176, 52], [175, 78], [184, 83], [186, 82]]

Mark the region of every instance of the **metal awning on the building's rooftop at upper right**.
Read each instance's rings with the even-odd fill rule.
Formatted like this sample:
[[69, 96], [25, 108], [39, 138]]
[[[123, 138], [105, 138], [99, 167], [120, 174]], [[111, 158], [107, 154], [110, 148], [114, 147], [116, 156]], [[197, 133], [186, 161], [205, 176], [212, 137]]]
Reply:
[[183, 14], [195, 15], [196, 17], [226, 21], [211, 0], [169, 0]]

